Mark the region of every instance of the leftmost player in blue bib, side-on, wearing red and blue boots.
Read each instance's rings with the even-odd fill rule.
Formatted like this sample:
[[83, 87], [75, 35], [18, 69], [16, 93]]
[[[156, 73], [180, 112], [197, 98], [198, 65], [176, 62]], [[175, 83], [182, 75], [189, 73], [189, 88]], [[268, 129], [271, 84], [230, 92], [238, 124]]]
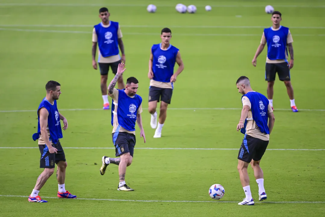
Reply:
[[59, 139], [62, 136], [61, 123], [63, 121], [64, 130], [68, 129], [67, 119], [61, 115], [58, 111], [57, 100], [61, 94], [60, 84], [56, 81], [49, 81], [45, 85], [46, 97], [42, 100], [38, 106], [38, 127], [37, 133], [34, 133], [32, 138], [34, 141], [38, 140], [38, 147], [41, 152], [40, 168], [44, 168], [44, 171], [39, 175], [36, 181], [36, 185], [29, 196], [29, 202], [45, 203], [46, 200], [42, 200], [38, 195], [39, 191], [47, 181], [47, 179], [53, 174], [56, 163], [57, 179], [59, 185], [58, 197], [60, 198], [76, 198], [69, 191], [65, 190], [65, 170], [67, 168], [67, 162], [65, 154]]

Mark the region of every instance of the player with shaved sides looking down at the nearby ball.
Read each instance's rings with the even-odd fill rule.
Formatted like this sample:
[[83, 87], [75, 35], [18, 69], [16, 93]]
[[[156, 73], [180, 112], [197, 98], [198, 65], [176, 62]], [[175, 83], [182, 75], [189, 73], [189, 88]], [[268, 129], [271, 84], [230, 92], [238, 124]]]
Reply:
[[243, 95], [241, 97], [243, 109], [237, 131], [240, 130], [245, 135], [239, 149], [237, 169], [246, 197], [239, 205], [254, 205], [247, 167], [251, 163], [258, 184], [259, 200], [265, 200], [266, 193], [260, 161], [268, 145], [269, 134], [273, 129], [275, 118], [267, 98], [263, 94], [253, 91], [246, 76], [238, 78], [236, 86]]

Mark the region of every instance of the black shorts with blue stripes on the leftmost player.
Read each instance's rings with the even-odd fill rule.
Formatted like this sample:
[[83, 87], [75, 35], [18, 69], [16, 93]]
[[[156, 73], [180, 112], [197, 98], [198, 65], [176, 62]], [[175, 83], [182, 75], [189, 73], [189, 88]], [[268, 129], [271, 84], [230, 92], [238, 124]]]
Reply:
[[66, 161], [60, 141], [56, 144], [52, 144], [52, 146], [58, 150], [58, 154], [51, 154], [46, 145], [38, 145], [41, 153], [40, 168], [55, 168], [54, 163], [58, 164], [59, 161]]

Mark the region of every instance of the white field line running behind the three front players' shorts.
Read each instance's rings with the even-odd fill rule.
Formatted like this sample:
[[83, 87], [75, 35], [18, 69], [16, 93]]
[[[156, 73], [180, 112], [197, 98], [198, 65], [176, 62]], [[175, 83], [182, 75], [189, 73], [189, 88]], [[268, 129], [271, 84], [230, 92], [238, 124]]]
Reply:
[[[38, 147], [0, 147], [0, 149], [33, 149]], [[64, 149], [115, 149], [115, 147], [64, 147]], [[137, 148], [149, 150], [239, 150], [238, 148]], [[291, 148], [269, 148], [269, 151], [325, 151], [325, 149], [291, 149]]]

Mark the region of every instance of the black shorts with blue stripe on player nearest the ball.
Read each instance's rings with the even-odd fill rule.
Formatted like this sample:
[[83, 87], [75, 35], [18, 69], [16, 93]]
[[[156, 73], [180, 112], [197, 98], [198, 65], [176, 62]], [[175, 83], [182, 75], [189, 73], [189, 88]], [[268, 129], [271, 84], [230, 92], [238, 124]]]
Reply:
[[252, 159], [255, 161], [261, 160], [268, 142], [245, 134], [237, 158], [247, 163], [250, 163]]

